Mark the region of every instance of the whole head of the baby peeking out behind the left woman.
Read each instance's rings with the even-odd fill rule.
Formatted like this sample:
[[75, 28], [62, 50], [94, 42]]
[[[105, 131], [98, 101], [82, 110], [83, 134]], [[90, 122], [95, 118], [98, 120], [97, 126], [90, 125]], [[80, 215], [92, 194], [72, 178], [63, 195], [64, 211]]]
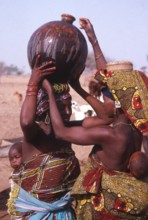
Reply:
[[19, 169], [22, 163], [22, 142], [14, 143], [9, 149], [9, 161], [13, 169]]

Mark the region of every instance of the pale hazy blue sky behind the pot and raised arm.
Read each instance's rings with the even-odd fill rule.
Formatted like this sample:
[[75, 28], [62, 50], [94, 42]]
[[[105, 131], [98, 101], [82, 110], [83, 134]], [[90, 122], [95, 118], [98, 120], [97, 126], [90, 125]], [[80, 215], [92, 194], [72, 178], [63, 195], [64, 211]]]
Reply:
[[148, 0], [0, 0], [0, 61], [30, 72], [30, 36], [63, 13], [90, 19], [106, 57], [148, 66]]

